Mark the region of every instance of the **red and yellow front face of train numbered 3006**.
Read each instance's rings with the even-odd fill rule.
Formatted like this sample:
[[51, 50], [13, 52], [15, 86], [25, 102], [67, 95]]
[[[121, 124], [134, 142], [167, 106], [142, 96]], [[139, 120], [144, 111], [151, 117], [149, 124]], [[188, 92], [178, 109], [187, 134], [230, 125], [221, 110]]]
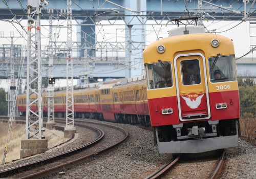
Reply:
[[160, 153], [238, 146], [239, 92], [230, 39], [216, 34], [167, 37], [150, 44], [143, 56]]

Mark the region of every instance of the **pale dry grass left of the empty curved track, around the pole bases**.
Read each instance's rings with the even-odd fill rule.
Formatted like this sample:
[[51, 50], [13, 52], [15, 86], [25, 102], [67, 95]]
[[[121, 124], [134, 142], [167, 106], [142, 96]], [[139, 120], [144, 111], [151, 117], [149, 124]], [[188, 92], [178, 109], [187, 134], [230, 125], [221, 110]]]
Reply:
[[[0, 123], [0, 164], [2, 164], [5, 144], [7, 140], [9, 124]], [[44, 132], [46, 139], [48, 139], [48, 148], [52, 148], [55, 145], [63, 143], [69, 139], [64, 138], [64, 132], [59, 130], [48, 130]], [[10, 133], [10, 139], [8, 142], [7, 155], [5, 162], [12, 162], [19, 159], [21, 140], [25, 139], [25, 125], [24, 124], [12, 124]]]

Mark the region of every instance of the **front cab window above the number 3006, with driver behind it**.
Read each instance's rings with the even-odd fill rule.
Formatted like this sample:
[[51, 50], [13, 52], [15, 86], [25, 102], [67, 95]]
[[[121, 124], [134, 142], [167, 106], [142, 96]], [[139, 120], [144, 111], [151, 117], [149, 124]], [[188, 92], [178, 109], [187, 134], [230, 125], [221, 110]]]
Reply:
[[233, 55], [211, 57], [208, 62], [212, 83], [236, 80]]

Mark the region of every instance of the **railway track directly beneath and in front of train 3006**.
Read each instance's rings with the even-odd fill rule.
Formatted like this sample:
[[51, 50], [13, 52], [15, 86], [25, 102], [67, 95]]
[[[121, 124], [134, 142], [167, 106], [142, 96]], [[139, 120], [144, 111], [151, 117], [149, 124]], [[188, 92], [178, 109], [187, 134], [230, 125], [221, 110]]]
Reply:
[[[196, 156], [196, 158], [193, 156], [191, 159], [187, 159], [184, 154], [178, 155], [164, 164], [157, 171], [145, 177], [145, 179], [178, 177], [211, 179], [221, 178], [225, 167], [224, 150], [217, 151], [217, 154], [211, 156], [210, 158], [207, 158], [208, 154], [209, 152], [206, 153], [206, 156]], [[189, 158], [190, 157], [191, 156], [189, 156]]]

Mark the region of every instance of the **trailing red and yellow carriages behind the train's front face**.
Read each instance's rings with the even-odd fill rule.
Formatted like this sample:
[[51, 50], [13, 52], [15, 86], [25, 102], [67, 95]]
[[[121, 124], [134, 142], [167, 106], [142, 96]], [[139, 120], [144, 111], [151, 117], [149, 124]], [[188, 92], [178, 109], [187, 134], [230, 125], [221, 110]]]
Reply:
[[[47, 92], [42, 98], [43, 114], [47, 117]], [[18, 95], [17, 104], [20, 115], [26, 116], [26, 94]], [[36, 106], [31, 108], [35, 110]], [[65, 87], [54, 91], [54, 116], [66, 117]], [[74, 87], [74, 117], [151, 126], [145, 76]]]

